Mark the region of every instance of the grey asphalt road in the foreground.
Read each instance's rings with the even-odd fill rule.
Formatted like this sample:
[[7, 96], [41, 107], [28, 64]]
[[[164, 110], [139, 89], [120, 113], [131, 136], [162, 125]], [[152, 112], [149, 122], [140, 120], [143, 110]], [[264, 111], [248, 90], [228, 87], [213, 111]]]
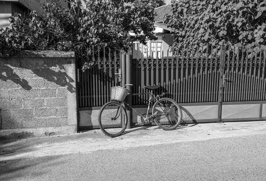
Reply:
[[166, 141], [156, 145], [4, 160], [0, 162], [0, 180], [262, 181], [266, 180], [265, 137], [263, 133]]

